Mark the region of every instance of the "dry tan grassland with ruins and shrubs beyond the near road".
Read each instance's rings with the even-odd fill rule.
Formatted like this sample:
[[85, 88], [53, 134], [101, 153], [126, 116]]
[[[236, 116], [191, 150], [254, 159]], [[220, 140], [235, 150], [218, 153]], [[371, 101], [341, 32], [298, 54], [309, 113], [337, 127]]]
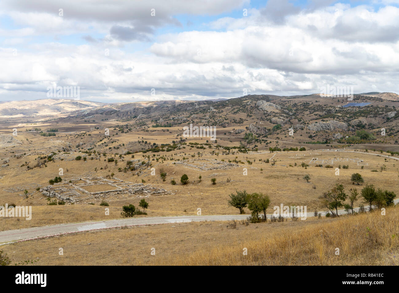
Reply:
[[[86, 136], [85, 138], [89, 137]], [[126, 140], [126, 143], [129, 140], [125, 136], [121, 136], [121, 138], [124, 141]], [[169, 137], [169, 143], [171, 138], [172, 136]], [[123, 205], [131, 203], [137, 206], [140, 201], [140, 197], [129, 194], [106, 197], [104, 199], [110, 204], [110, 215], [105, 215], [104, 208], [99, 206], [101, 198], [93, 198], [92, 203], [94, 205], [82, 206], [80, 204], [70, 205], [67, 203], [65, 206], [49, 206], [47, 205], [46, 197], [36, 190], [38, 187], [29, 185], [34, 183], [47, 186], [49, 179], [59, 175], [59, 168], [63, 169], [62, 178], [64, 178], [64, 181], [84, 174], [106, 177], [114, 173], [114, 177], [121, 180], [131, 183], [141, 183], [144, 180], [145, 184], [174, 193], [174, 195], [150, 195], [146, 198], [149, 203], [148, 216], [196, 214], [197, 208], [201, 208], [201, 212], [204, 215], [236, 214], [238, 210], [228, 206], [227, 201], [230, 193], [243, 189], [249, 193], [261, 191], [268, 194], [271, 197], [271, 207], [283, 203], [284, 205], [306, 205], [308, 212], [325, 210], [320, 204], [319, 197], [332, 188], [334, 184], [340, 183], [344, 185], [347, 193], [352, 187], [356, 187], [358, 191], [361, 190], [362, 186], [352, 185], [350, 181], [352, 173], [360, 173], [362, 175], [365, 181], [363, 186], [365, 184], [374, 184], [376, 187], [383, 187], [384, 189], [395, 191], [397, 194], [399, 193], [397, 185], [399, 162], [392, 158], [379, 156], [389, 155], [388, 153], [371, 150], [368, 153], [323, 150], [271, 153], [269, 150], [259, 149], [257, 152], [245, 154], [223, 154], [222, 151], [215, 151], [215, 149], [197, 149], [186, 145], [184, 149], [176, 149], [169, 152], [135, 153], [135, 160], [144, 160], [146, 159], [144, 156], [150, 156], [152, 164], [150, 167], [155, 168], [156, 174], [155, 176], [150, 175], [151, 170], [148, 167], [142, 169], [140, 175], [137, 176], [136, 171], [129, 170], [125, 173], [118, 170], [118, 168], [121, 167], [123, 169], [126, 166], [126, 161], [132, 159], [131, 155], [119, 157], [119, 155], [107, 153], [106, 157], [98, 154], [87, 156], [76, 151], [58, 152], [56, 149], [54, 161], [47, 162], [45, 167], [36, 167], [28, 170], [27, 165], [32, 166], [38, 157], [37, 154], [32, 153], [30, 155], [29, 151], [38, 151], [41, 149], [41, 144], [48, 141], [49, 138], [22, 132], [18, 139], [21, 141], [28, 139], [28, 142], [24, 142], [24, 146], [33, 144], [34, 147], [32, 149], [26, 149], [29, 146], [24, 147], [26, 155], [22, 157], [10, 156], [9, 166], [0, 170], [0, 176], [2, 176], [0, 181], [0, 202], [4, 204], [30, 205], [32, 206], [33, 216], [30, 221], [19, 220], [18, 218], [0, 218], [0, 230], [119, 218]], [[57, 136], [57, 140], [67, 141], [68, 139], [69, 134], [59, 134]], [[144, 137], [144, 139], [148, 139], [150, 142], [157, 141], [157, 143], [158, 140], [162, 140], [160, 136]], [[31, 143], [31, 141], [33, 142]], [[187, 142], [201, 142], [201, 140], [189, 138]], [[6, 151], [6, 149], [3, 150]], [[75, 157], [77, 155], [86, 156], [87, 160], [76, 161]], [[91, 160], [92, 157], [95, 157], [95, 159]], [[110, 157], [117, 159], [118, 163], [108, 162]], [[317, 161], [312, 160], [313, 158], [317, 158]], [[188, 160], [188, 165], [180, 164], [183, 159]], [[266, 159], [269, 159], [269, 163], [265, 163]], [[209, 169], [217, 166], [218, 163], [228, 163], [229, 161], [233, 163], [237, 161], [238, 163], [226, 169]], [[306, 163], [309, 166], [302, 167], [302, 163]], [[315, 167], [318, 163], [323, 163], [324, 167]], [[326, 165], [331, 165], [333, 168], [326, 168]], [[343, 169], [344, 165], [348, 165], [349, 169]], [[203, 166], [205, 169], [200, 169], [196, 166]], [[341, 167], [340, 175], [335, 175], [335, 168], [337, 167]], [[363, 169], [361, 169], [362, 167]], [[160, 177], [160, 170], [162, 169], [167, 173], [166, 181], [162, 181]], [[246, 176], [243, 175], [245, 169]], [[371, 170], [377, 170], [378, 172], [372, 172]], [[189, 183], [187, 185], [180, 183], [180, 177], [183, 174], [188, 175]], [[310, 175], [309, 182], [306, 182], [303, 178], [307, 174]], [[201, 176], [201, 180], [199, 180], [199, 176]], [[216, 178], [215, 185], [211, 183], [211, 178]], [[176, 185], [171, 184], [172, 179], [176, 181]], [[229, 182], [227, 182], [228, 179], [230, 180]], [[84, 181], [79, 182], [84, 183]], [[14, 193], [5, 191], [9, 187], [16, 186], [22, 189]], [[25, 188], [28, 190], [28, 198], [24, 196], [23, 190]], [[103, 191], [112, 188], [110, 185], [105, 184], [84, 187], [87, 191]], [[245, 212], [249, 213], [249, 210], [245, 209]], [[272, 209], [269, 212], [272, 212]]]

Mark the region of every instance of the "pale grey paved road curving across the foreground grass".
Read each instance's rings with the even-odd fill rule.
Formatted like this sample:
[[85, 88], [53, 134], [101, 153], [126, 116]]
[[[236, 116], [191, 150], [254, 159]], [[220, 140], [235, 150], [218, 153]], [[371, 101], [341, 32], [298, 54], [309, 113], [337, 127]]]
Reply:
[[[399, 199], [394, 201], [399, 202]], [[354, 208], [358, 211], [359, 208]], [[325, 216], [326, 212], [320, 212]], [[338, 214], [346, 214], [345, 210], [338, 210]], [[41, 226], [33, 228], [25, 228], [19, 230], [7, 230], [0, 232], [0, 246], [15, 242], [23, 242], [59, 235], [72, 234], [77, 232], [85, 232], [92, 230], [103, 230], [111, 228], [120, 228], [124, 226], [140, 226], [140, 225], [158, 225], [173, 224], [186, 222], [202, 222], [202, 221], [227, 221], [227, 220], [244, 220], [248, 214], [235, 215], [211, 215], [211, 216], [170, 216], [170, 217], [148, 217], [148, 218], [122, 218], [103, 221], [90, 221], [80, 223], [57, 224], [50, 226]], [[314, 216], [314, 212], [307, 212], [306, 217]], [[271, 214], [267, 215], [268, 218]]]

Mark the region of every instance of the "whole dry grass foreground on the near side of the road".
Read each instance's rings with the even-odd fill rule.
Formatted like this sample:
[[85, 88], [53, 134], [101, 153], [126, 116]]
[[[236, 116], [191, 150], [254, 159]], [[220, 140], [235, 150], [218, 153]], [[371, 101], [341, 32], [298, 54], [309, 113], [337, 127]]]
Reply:
[[398, 265], [398, 217], [399, 209], [390, 208], [385, 216], [372, 212], [248, 226], [237, 222], [236, 228], [227, 222], [136, 226], [21, 242], [2, 250], [15, 262], [36, 260], [34, 265]]

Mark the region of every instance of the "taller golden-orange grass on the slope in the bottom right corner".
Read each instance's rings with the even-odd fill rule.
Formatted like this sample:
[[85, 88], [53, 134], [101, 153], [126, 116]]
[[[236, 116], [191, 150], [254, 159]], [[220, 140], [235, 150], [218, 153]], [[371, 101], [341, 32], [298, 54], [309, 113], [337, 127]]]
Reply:
[[[260, 241], [177, 255], [161, 265], [398, 265], [399, 208], [341, 217]], [[243, 255], [243, 248], [248, 254]], [[339, 255], [336, 255], [339, 248]]]

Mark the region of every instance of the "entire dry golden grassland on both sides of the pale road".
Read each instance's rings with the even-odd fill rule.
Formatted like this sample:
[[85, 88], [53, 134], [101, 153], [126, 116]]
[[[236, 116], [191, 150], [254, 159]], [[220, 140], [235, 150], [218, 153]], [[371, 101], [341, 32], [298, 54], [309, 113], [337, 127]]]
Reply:
[[[55, 126], [36, 124], [35, 127], [49, 129]], [[56, 127], [76, 131], [87, 129], [87, 124]], [[7, 131], [3, 129], [4, 133]], [[242, 136], [224, 134], [229, 131], [233, 131], [233, 127], [218, 134], [217, 144], [239, 146]], [[342, 184], [346, 193], [351, 188], [360, 192], [366, 184], [374, 184], [399, 194], [399, 162], [378, 149], [367, 150], [367, 153], [364, 149], [353, 152], [356, 149], [337, 151], [336, 147], [330, 147], [327, 150], [320, 149], [325, 146], [298, 144], [290, 137], [284, 140], [271, 138], [267, 146], [240, 153], [237, 149], [224, 151], [217, 148], [216, 143], [211, 143], [211, 148], [198, 149], [190, 143], [203, 144], [206, 139], [187, 138], [180, 149], [119, 155], [123, 153], [119, 147], [142, 146], [138, 140], [150, 145], [171, 144], [178, 140], [179, 133], [181, 127], [150, 128], [148, 132], [135, 129], [126, 134], [114, 134], [104, 143], [103, 130], [60, 132], [56, 137], [21, 131], [17, 136], [21, 144], [0, 149], [0, 156], [8, 158], [6, 166], [0, 169], [0, 202], [32, 206], [32, 220], [2, 217], [0, 230], [120, 218], [122, 206], [133, 204], [138, 207], [143, 196], [149, 203], [147, 215], [138, 217], [195, 215], [197, 208], [201, 208], [202, 215], [238, 214], [227, 201], [229, 194], [244, 189], [248, 193], [269, 195], [268, 213], [273, 213], [273, 206], [281, 203], [307, 206], [308, 212], [324, 211], [321, 197], [336, 183]], [[95, 143], [100, 144], [101, 151], [91, 155], [77, 151], [81, 144], [87, 148]], [[270, 146], [304, 146], [306, 151], [271, 152]], [[35, 166], [38, 157], [50, 154], [53, 154], [51, 161]], [[76, 160], [77, 156], [82, 158]], [[133, 165], [140, 161], [150, 165], [138, 170], [124, 170], [130, 160], [134, 161]], [[346, 165], [348, 169], [344, 169]], [[339, 168], [339, 175], [336, 175], [336, 168]], [[153, 170], [155, 175], [151, 175]], [[160, 177], [162, 171], [166, 173], [165, 181]], [[350, 180], [352, 173], [360, 173], [364, 182], [354, 185]], [[188, 175], [186, 185], [180, 183], [183, 174]], [[310, 176], [309, 182], [304, 179], [305, 175]], [[47, 187], [49, 180], [57, 176], [63, 179], [67, 191], [75, 190], [80, 195], [84, 191], [75, 189], [69, 184], [70, 180], [75, 185], [86, 184], [88, 178], [108, 180], [109, 183], [82, 186], [91, 193], [139, 183], [168, 193], [104, 193], [88, 195], [81, 203], [48, 205], [47, 197], [38, 189]], [[211, 183], [212, 178], [216, 179], [216, 184]], [[172, 179], [176, 185], [172, 185]], [[102, 200], [109, 203], [109, 215], [105, 214], [105, 206], [100, 206]], [[355, 206], [360, 203], [363, 203], [362, 199]], [[248, 208], [244, 211], [250, 213]], [[238, 223], [237, 228], [227, 228], [227, 222], [138, 226], [10, 244], [2, 250], [16, 262], [32, 259], [37, 260], [34, 263], [37, 265], [391, 265], [397, 264], [394, 257], [398, 253], [397, 216], [397, 208], [391, 208], [384, 217], [360, 214], [334, 219], [308, 218], [298, 222], [288, 219], [287, 222], [269, 221], [248, 226]], [[320, 236], [321, 231], [323, 236]], [[58, 254], [59, 248], [63, 248], [63, 256]], [[156, 249], [155, 256], [150, 254], [151, 248]], [[248, 249], [247, 256], [243, 256], [243, 248]], [[335, 248], [340, 248], [339, 256], [334, 255]]]

